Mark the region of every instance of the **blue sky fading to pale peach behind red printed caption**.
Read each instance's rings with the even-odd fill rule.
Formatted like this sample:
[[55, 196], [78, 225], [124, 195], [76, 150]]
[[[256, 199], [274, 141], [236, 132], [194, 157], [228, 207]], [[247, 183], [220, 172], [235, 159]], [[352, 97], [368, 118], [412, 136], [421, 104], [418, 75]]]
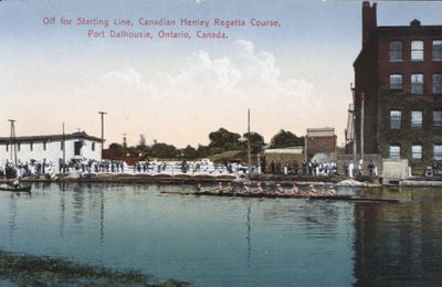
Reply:
[[[378, 25], [441, 24], [440, 1], [378, 1]], [[91, 39], [92, 26], [45, 25], [43, 19], [214, 18], [248, 22], [219, 29], [227, 40]], [[57, 134], [77, 128], [98, 136], [106, 110], [106, 138], [139, 134], [183, 147], [207, 145], [224, 127], [252, 130], [266, 141], [280, 129], [335, 127], [344, 140], [351, 99], [352, 62], [360, 50], [361, 1], [55, 1], [0, 2], [0, 134], [8, 118], [17, 134]], [[277, 20], [253, 28], [250, 19]], [[105, 29], [108, 33], [110, 26]], [[149, 30], [135, 24], [129, 31]], [[162, 28], [161, 28], [162, 29]], [[170, 28], [165, 28], [168, 31]]]

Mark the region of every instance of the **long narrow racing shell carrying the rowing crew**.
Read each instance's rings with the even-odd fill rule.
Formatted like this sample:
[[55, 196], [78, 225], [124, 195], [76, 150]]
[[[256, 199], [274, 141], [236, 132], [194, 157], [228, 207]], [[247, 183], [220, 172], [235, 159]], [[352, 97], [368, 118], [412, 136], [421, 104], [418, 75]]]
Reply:
[[307, 195], [307, 194], [275, 194], [275, 193], [214, 193], [161, 191], [161, 194], [196, 195], [196, 196], [231, 196], [231, 198], [254, 198], [254, 199], [307, 199], [307, 200], [330, 200], [330, 201], [365, 201], [365, 202], [400, 202], [393, 199], [360, 198], [348, 194], [337, 195]]

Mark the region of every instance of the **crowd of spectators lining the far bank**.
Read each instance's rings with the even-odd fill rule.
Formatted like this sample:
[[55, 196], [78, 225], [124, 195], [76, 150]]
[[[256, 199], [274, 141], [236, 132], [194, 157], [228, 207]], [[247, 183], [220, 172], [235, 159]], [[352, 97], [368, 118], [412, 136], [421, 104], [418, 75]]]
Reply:
[[[378, 169], [370, 161], [367, 166], [368, 176], [377, 177]], [[252, 168], [252, 173], [256, 169]], [[336, 161], [308, 161], [298, 164], [294, 162], [292, 166], [281, 162], [271, 162], [270, 170], [265, 168], [259, 169], [259, 173], [271, 174], [294, 174], [294, 176], [314, 176], [314, 177], [330, 177], [338, 173]], [[344, 170], [340, 174], [349, 178], [361, 176], [362, 162], [357, 166], [352, 161], [344, 162]], [[22, 178], [22, 177], [54, 177], [56, 173], [148, 173], [148, 174], [241, 174], [248, 173], [248, 167], [241, 163], [213, 163], [210, 160], [201, 161], [138, 161], [133, 166], [128, 166], [120, 160], [93, 160], [93, 159], [71, 159], [63, 162], [59, 160], [57, 164], [52, 161], [31, 160], [30, 162], [18, 162], [14, 166], [11, 161], [7, 161], [4, 166], [0, 166], [0, 178]]]

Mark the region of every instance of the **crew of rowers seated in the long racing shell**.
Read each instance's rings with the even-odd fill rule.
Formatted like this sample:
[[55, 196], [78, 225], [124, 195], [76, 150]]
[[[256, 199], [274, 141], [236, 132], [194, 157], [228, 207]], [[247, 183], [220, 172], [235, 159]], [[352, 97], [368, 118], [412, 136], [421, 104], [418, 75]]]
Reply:
[[[197, 185], [197, 192], [203, 192], [201, 190], [201, 184]], [[307, 195], [307, 196], [315, 196], [315, 195], [327, 195], [327, 196], [335, 196], [337, 195], [336, 190], [333, 189], [333, 187], [329, 187], [328, 190], [326, 190], [324, 193], [319, 193], [314, 187], [313, 184], [311, 184], [308, 187], [307, 191], [301, 191], [296, 184], [293, 182], [293, 187], [290, 190], [285, 190], [283, 187], [281, 187], [281, 184], [276, 184], [276, 191], [275, 192], [267, 192], [264, 190], [263, 185], [261, 184], [261, 182], [257, 182], [256, 184], [256, 190], [252, 190], [250, 184], [248, 183], [243, 183], [243, 188], [241, 191], [236, 191], [232, 183], [229, 182], [227, 189], [224, 189], [224, 187], [222, 185], [221, 182], [218, 183], [218, 185], [208, 192], [213, 192], [213, 193], [218, 193], [218, 194], [223, 194], [223, 193], [228, 193], [228, 194], [276, 194], [276, 195]]]

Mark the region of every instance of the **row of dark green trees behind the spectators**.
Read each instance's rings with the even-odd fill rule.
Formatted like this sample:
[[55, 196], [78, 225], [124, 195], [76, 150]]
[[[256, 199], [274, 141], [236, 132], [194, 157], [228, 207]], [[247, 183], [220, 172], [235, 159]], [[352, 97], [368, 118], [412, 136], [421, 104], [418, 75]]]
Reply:
[[[143, 160], [151, 158], [194, 160], [229, 152], [235, 157], [241, 157], [241, 155], [246, 155], [248, 152], [249, 139], [253, 155], [259, 153], [266, 146], [264, 137], [257, 132], [245, 132], [241, 136], [224, 128], [219, 128], [210, 132], [209, 139], [210, 144], [208, 146], [199, 145], [194, 148], [188, 145], [186, 148], [179, 149], [173, 145], [157, 142], [156, 140], [154, 140], [151, 146], [148, 146], [144, 136], [141, 136], [137, 146], [124, 147], [120, 144], [113, 142], [109, 145], [109, 149], [116, 156], [127, 153], [140, 155]], [[286, 148], [303, 145], [304, 137], [297, 137], [288, 130], [281, 129], [272, 137], [269, 148]]]

